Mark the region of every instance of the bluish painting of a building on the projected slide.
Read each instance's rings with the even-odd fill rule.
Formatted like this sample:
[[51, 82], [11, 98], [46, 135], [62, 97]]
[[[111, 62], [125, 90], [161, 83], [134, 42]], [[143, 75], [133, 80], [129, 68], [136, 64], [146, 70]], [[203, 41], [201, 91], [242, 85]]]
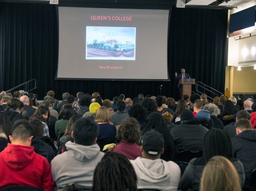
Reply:
[[86, 59], [135, 60], [136, 28], [86, 27]]

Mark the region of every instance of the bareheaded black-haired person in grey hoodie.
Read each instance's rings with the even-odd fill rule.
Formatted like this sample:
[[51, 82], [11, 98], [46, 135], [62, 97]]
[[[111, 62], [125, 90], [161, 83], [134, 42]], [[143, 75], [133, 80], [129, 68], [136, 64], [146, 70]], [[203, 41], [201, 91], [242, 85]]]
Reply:
[[70, 182], [90, 188], [94, 169], [104, 156], [95, 144], [99, 126], [90, 117], [83, 117], [74, 124], [71, 137], [74, 142], [66, 143], [67, 150], [51, 161], [52, 179], [58, 188], [64, 188]]

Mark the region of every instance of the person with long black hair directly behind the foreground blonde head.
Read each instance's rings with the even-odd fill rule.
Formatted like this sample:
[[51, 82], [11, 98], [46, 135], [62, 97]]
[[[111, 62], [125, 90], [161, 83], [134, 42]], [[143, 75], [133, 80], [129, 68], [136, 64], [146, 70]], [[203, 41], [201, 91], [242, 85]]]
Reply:
[[203, 169], [211, 157], [224, 156], [232, 162], [239, 174], [240, 185], [244, 184], [245, 175], [243, 164], [232, 155], [231, 140], [220, 129], [213, 128], [204, 137], [203, 157], [190, 160], [184, 174], [181, 177], [180, 188], [182, 191], [198, 190]]

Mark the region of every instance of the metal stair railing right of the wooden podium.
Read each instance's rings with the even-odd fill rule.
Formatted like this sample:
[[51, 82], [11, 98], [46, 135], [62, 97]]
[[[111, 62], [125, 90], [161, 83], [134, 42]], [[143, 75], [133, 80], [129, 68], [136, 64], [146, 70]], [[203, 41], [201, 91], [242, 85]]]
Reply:
[[[221, 95], [224, 95], [224, 93], [217, 91], [216, 89], [213, 89], [212, 87], [202, 83], [202, 82], [196, 82], [195, 83], [195, 90], [197, 91], [197, 94], [205, 93], [207, 95], [207, 99], [209, 102], [213, 103], [213, 98]], [[195, 93], [195, 92], [193, 92]], [[209, 100], [210, 99], [210, 100]]]

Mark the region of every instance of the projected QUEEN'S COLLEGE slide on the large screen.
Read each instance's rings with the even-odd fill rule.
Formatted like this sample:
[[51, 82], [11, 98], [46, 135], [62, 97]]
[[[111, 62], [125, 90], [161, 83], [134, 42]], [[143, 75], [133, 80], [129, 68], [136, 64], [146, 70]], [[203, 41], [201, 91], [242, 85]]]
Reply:
[[169, 10], [58, 7], [55, 79], [169, 80]]

